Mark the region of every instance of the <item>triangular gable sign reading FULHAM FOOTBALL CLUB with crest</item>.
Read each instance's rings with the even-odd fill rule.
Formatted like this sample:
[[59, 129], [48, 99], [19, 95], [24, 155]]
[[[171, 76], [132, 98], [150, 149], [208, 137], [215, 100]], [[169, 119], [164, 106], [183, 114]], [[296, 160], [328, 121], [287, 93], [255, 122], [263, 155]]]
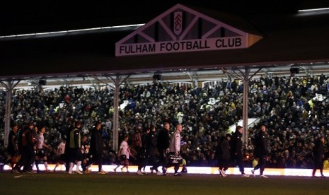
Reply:
[[177, 4], [117, 42], [115, 56], [246, 47], [248, 33]]

